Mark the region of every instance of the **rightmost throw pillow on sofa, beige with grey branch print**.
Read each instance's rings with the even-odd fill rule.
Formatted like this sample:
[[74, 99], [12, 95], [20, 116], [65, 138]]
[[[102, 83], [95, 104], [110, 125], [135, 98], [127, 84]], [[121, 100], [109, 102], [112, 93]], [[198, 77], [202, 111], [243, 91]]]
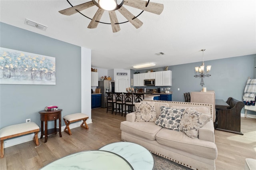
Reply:
[[180, 121], [180, 130], [190, 138], [196, 138], [199, 128], [203, 127], [210, 119], [210, 115], [187, 108]]

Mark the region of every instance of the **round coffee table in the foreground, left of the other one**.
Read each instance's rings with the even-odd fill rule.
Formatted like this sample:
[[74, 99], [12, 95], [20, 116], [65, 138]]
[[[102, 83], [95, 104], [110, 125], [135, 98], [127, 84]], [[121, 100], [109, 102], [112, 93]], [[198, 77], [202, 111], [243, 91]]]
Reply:
[[118, 154], [105, 150], [88, 150], [70, 154], [44, 166], [41, 170], [133, 170]]

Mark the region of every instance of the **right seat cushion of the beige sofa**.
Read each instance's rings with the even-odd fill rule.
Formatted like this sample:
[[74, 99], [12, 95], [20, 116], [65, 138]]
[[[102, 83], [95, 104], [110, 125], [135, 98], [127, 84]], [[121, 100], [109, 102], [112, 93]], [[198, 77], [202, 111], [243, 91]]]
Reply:
[[156, 141], [165, 146], [176, 148], [190, 154], [203, 156], [205, 158], [216, 159], [218, 155], [217, 147], [214, 142], [190, 138], [181, 131], [162, 128], [156, 134]]

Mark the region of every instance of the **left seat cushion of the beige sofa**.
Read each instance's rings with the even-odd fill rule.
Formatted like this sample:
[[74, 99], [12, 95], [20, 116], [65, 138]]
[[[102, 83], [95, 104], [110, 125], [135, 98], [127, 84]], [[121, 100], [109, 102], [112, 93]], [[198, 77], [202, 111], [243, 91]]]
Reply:
[[156, 134], [162, 127], [154, 122], [121, 122], [120, 129], [130, 134], [134, 134], [149, 140], [156, 140]]

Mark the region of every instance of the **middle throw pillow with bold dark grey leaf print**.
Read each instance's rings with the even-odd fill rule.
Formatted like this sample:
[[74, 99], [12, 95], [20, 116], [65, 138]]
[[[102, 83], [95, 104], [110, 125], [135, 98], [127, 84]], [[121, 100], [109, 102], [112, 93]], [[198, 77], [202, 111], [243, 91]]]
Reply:
[[180, 120], [185, 109], [174, 109], [172, 107], [161, 107], [161, 115], [156, 120], [156, 125], [180, 131]]

